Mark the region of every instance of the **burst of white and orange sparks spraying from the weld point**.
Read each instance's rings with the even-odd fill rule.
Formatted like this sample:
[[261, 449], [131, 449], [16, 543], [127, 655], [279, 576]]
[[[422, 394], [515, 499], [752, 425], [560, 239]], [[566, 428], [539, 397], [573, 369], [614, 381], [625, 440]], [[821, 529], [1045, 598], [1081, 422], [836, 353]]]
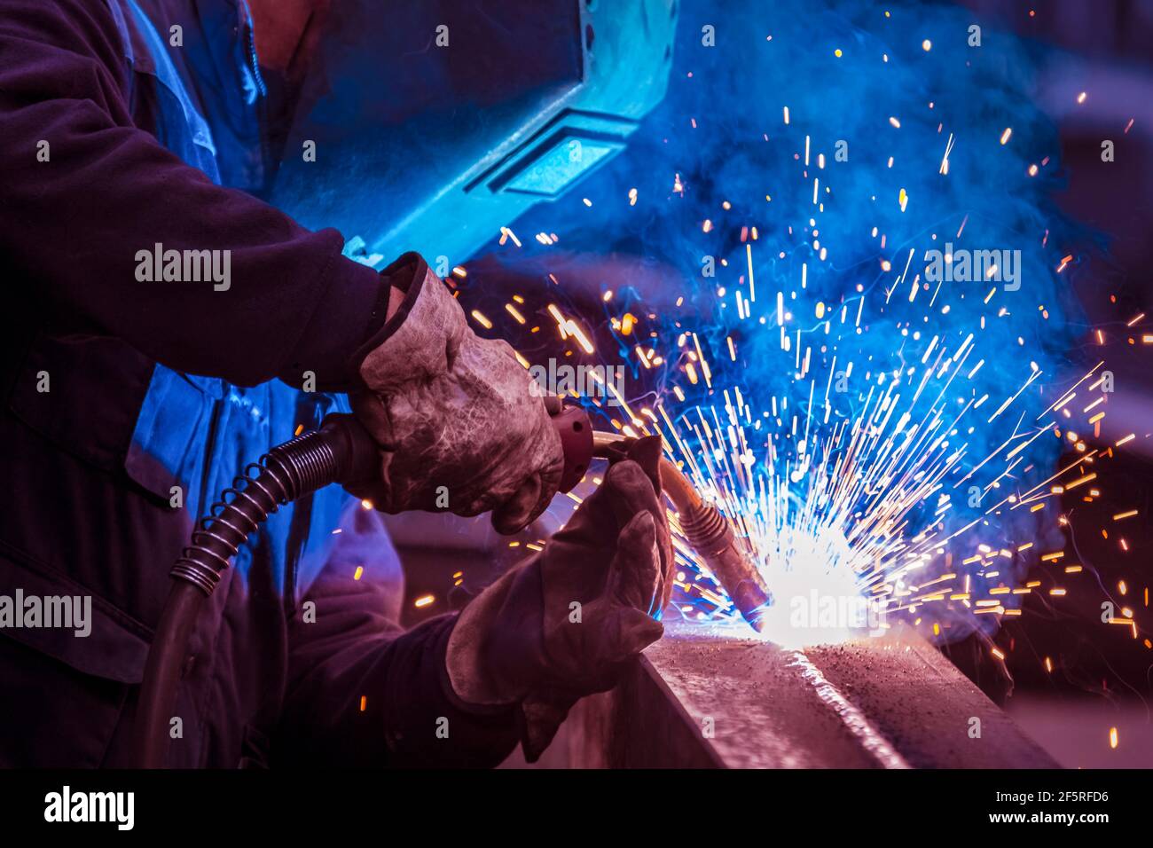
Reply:
[[[928, 39], [922, 47], [930, 50]], [[842, 57], [839, 48], [834, 54]], [[996, 275], [989, 265], [986, 279], [967, 291], [925, 279], [924, 268], [912, 262], [926, 248], [941, 246], [937, 233], [926, 231], [922, 241], [898, 238], [888, 217], [896, 197], [906, 215], [903, 220], [919, 231], [925, 225], [918, 215], [932, 202], [922, 182], [907, 177], [897, 182], [892, 177], [907, 173], [902, 171], [907, 167], [904, 149], [892, 151], [896, 157], [887, 156], [890, 151], [877, 157], [877, 173], [889, 181], [875, 190], [872, 202], [884, 208], [886, 217], [860, 232], [864, 238], [872, 230], [876, 240], [868, 273], [875, 273], [879, 284], [857, 277], [852, 285], [849, 278], [839, 287], [836, 278], [830, 285], [834, 271], [826, 269], [831, 263], [821, 260], [826, 250], [837, 256], [838, 227], [830, 220], [836, 210], [824, 207], [831, 207], [830, 198], [846, 204], [853, 198], [844, 197], [835, 164], [814, 175], [809, 163], [814, 156], [822, 162], [822, 136], [798, 133], [791, 127], [790, 107], [781, 110], [784, 128], [777, 129], [793, 136], [796, 181], [758, 186], [753, 196], [778, 197], [771, 209], [779, 207], [781, 197], [794, 195], [804, 204], [802, 219], [770, 227], [751, 212], [732, 223], [736, 216], [728, 212], [747, 205], [731, 186], [718, 185], [713, 197], [732, 198], [719, 203], [726, 213], [718, 215], [711, 205], [716, 201], [710, 201], [711, 211], [701, 210], [691, 220], [694, 237], [704, 232], [721, 242], [731, 239], [734, 249], [717, 257], [729, 277], [703, 291], [668, 293], [675, 307], [665, 315], [656, 307], [649, 312], [638, 306], [639, 298], [621, 284], [616, 295], [611, 290], [602, 295], [598, 306], [611, 310], [602, 327], [589, 323], [589, 316], [578, 323], [566, 314], [567, 306], [565, 313], [556, 303], [547, 306], [566, 355], [627, 365], [638, 383], [630, 400], [646, 396], [648, 404], [647, 412], [634, 414], [620, 397], [623, 389], [608, 385], [606, 393], [621, 406], [595, 405], [615, 431], [660, 436], [669, 459], [731, 521], [785, 616], [790, 593], [815, 587], [862, 599], [884, 621], [902, 617], [930, 638], [949, 640], [971, 629], [992, 632], [998, 621], [1020, 614], [1025, 598], [1048, 603], [1077, 591], [1083, 579], [1078, 576], [1090, 563], [1069, 563], [1080, 557], [1067, 556], [1063, 543], [1050, 545], [1052, 536], [1042, 535], [1041, 528], [1068, 530], [1073, 516], [1062, 498], [1070, 493], [1077, 498], [1100, 497], [1102, 460], [1136, 438], [1129, 434], [1113, 446], [1090, 440], [1090, 434], [1100, 437], [1111, 391], [1102, 385], [1103, 361], [1087, 363], [1076, 382], [1050, 373], [1052, 358], [1028, 361], [1024, 351], [1034, 335], [1026, 331], [1031, 329], [1026, 313], [1040, 309], [1049, 320], [1054, 305], [1028, 302], [1024, 290], [1010, 297], [992, 279]], [[808, 115], [800, 114], [806, 120], [798, 123], [808, 123]], [[873, 121], [886, 119], [900, 130], [884, 134], [887, 138], [907, 138], [920, 129], [915, 122], [903, 129], [900, 118], [884, 112]], [[945, 137], [941, 126], [937, 132]], [[995, 151], [1000, 141], [1008, 149], [997, 152], [1009, 156], [1019, 147], [1010, 145], [1012, 135], [1012, 127], [1003, 127], [998, 136], [995, 127], [986, 126], [975, 140], [949, 132], [943, 155], [934, 145], [922, 153], [928, 162], [914, 165], [927, 164], [932, 174], [932, 165], [939, 164], [939, 174], [948, 177], [956, 150], [967, 155], [980, 143]], [[884, 167], [887, 159], [891, 171]], [[1013, 171], [1019, 187], [1046, 167], [1048, 158], [1039, 163], [1022, 163]], [[665, 180], [661, 177], [666, 186]], [[918, 203], [910, 203], [910, 190]], [[686, 197], [680, 172], [675, 174], [672, 193], [672, 203], [693, 198], [693, 193]], [[621, 209], [636, 203], [636, 189], [615, 196]], [[974, 225], [980, 220], [974, 217]], [[962, 210], [934, 226], [959, 241], [969, 224], [970, 215]], [[778, 232], [786, 232], [804, 252], [792, 252], [790, 240]], [[972, 227], [966, 238], [971, 232]], [[506, 238], [519, 246], [504, 227], [502, 243]], [[752, 241], [758, 241], [756, 252]], [[1049, 241], [1042, 225], [1035, 245]], [[1072, 254], [1058, 262], [1064, 253], [1058, 248], [1035, 254], [1043, 257], [1040, 272], [1062, 273], [1073, 263]], [[686, 271], [685, 280], [696, 272]], [[709, 292], [724, 320], [710, 318], [709, 310], [694, 302]], [[685, 294], [692, 308], [681, 308]], [[562, 295], [556, 299], [572, 302]], [[626, 305], [631, 312], [625, 312]], [[512, 305], [505, 310], [517, 322], [514, 331], [526, 323], [526, 313], [533, 314]], [[1144, 317], [1137, 315], [1128, 325], [1133, 328]], [[1012, 327], [1011, 333], [990, 332], [1002, 324]], [[1105, 335], [1095, 332], [1098, 344], [1105, 345]], [[1010, 347], [1008, 339], [1017, 344]], [[1038, 414], [1041, 406], [1046, 408]], [[1055, 445], [1076, 453], [1058, 464]], [[566, 509], [579, 503], [587, 497], [586, 490], [579, 491], [558, 503]], [[1110, 515], [1121, 521], [1138, 512]], [[677, 608], [694, 620], [733, 617], [731, 600], [679, 533], [677, 516], [670, 516], [670, 524], [679, 569]], [[1108, 539], [1106, 528], [1100, 530]], [[540, 549], [533, 543], [526, 547]], [[1026, 579], [1031, 568], [1043, 581]], [[1055, 585], [1055, 577], [1064, 585]], [[1131, 624], [1136, 637], [1136, 622], [1126, 617], [1122, 623]], [[845, 630], [827, 638], [850, 635]], [[989, 652], [1005, 660], [1002, 648]], [[1043, 665], [1053, 671], [1049, 656]]]

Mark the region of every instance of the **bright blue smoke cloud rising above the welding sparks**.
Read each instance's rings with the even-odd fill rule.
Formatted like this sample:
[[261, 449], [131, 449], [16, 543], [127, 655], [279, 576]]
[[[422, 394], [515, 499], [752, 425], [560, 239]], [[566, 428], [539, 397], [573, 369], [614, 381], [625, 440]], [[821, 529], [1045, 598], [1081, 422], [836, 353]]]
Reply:
[[[980, 23], [963, 9], [909, 2], [684, 2], [668, 97], [628, 150], [572, 196], [538, 207], [515, 224], [522, 232], [558, 233], [568, 250], [643, 257], [664, 269], [666, 291], [647, 292], [643, 301], [619, 291], [610, 312], [621, 313], [630, 297], [648, 305], [633, 308], [639, 315], [654, 308], [657, 317], [645, 330], [657, 330], [664, 347], [683, 331], [696, 332], [708, 351], [715, 389], [739, 384], [758, 411], [777, 397], [787, 398], [790, 410], [823, 418], [823, 392], [817, 391], [808, 410], [808, 381], [823, 387], [836, 355], [838, 369], [846, 360], [854, 362], [850, 391], [829, 400], [830, 421], [836, 422], [853, 414], [883, 372], [915, 365], [915, 377], [898, 377], [911, 393], [934, 336], [955, 351], [973, 333], [978, 347], [966, 372], [978, 359], [985, 365], [971, 381], [958, 378], [963, 391], [951, 392], [950, 408], [959, 411], [960, 397], [989, 398], [978, 414], [967, 417], [959, 434], [969, 449], [958, 473], [945, 482], [952, 494], [952, 510], [943, 519], [945, 534], [989, 505], [982, 501], [971, 506], [967, 485], [952, 485], [1001, 445], [1018, 421], [1019, 433], [1034, 431], [1037, 417], [1057, 399], [1050, 378], [1061, 370], [1073, 339], [1070, 322], [1079, 321], [1078, 307], [1056, 272], [1061, 245], [1073, 231], [1049, 202], [1061, 185], [1058, 148], [1054, 126], [1031, 99], [1035, 47], [984, 28], [980, 46], [970, 46], [970, 27]], [[703, 43], [710, 27], [715, 46]], [[1007, 128], [1011, 134], [1002, 143]], [[954, 144], [944, 175], [940, 167], [950, 134]], [[838, 149], [847, 153], [846, 160], [837, 159]], [[821, 153], [823, 168], [817, 166]], [[1035, 175], [1030, 175], [1034, 165]], [[675, 190], [678, 175], [680, 190]], [[823, 208], [813, 202], [814, 178], [820, 180]], [[630, 205], [633, 188], [636, 202]], [[904, 211], [902, 189], [907, 197]], [[582, 197], [591, 207], [581, 203]], [[711, 224], [708, 232], [706, 220]], [[929, 309], [934, 283], [911, 303], [914, 277], [925, 282], [926, 250], [943, 252], [947, 242], [970, 250], [1019, 250], [1019, 290], [997, 285], [986, 305], [994, 284], [947, 283]], [[752, 245], [756, 302], [752, 317], [741, 320], [734, 292], [746, 300], [752, 293], [746, 243]], [[828, 252], [823, 260], [822, 248]], [[519, 257], [547, 263], [550, 249], [526, 239]], [[886, 293], [902, 277], [911, 249], [907, 273], [887, 303]], [[715, 258], [715, 277], [702, 275], [704, 257]], [[890, 263], [888, 270], [883, 261]], [[785, 322], [791, 343], [797, 344], [799, 330], [800, 345], [813, 348], [809, 375], [801, 382], [793, 367], [796, 350], [781, 351], [778, 291], [791, 314]], [[684, 302], [675, 307], [678, 297]], [[862, 331], [857, 333], [853, 324], [862, 298]], [[837, 321], [847, 308], [847, 324], [835, 324], [827, 336], [815, 317], [819, 301]], [[660, 307], [653, 307], [655, 302]], [[630, 354], [635, 339], [616, 338]], [[730, 361], [729, 338], [737, 361]], [[685, 380], [676, 351], [669, 351], [666, 360], [642, 370], [630, 357], [634, 395], [666, 392], [676, 383], [688, 398], [666, 404], [670, 414], [687, 413], [698, 403], [723, 403], [703, 382], [691, 385]], [[1030, 376], [1031, 363], [1045, 376], [988, 425], [988, 417]], [[1060, 450], [1053, 434], [1042, 436], [1028, 451], [1028, 461], [1001, 481], [1000, 494], [987, 497], [1000, 501], [1008, 491], [1040, 482], [1054, 471]], [[1003, 467], [1003, 461], [990, 463], [973, 482], [987, 486]], [[920, 508], [921, 524], [932, 520], [935, 505], [933, 501]], [[1010, 516], [1002, 510], [988, 518], [980, 541], [994, 548], [1037, 541], [1031, 551], [1035, 556], [1045, 542], [1060, 538], [1054, 535], [1052, 512], [1018, 509]], [[910, 525], [918, 526], [918, 518]], [[1017, 558], [987, 581], [974, 576], [973, 595], [1012, 584], [1027, 564], [1027, 558]], [[1013, 602], [1007, 599], [1007, 606]], [[978, 618], [977, 624], [994, 625], [993, 616]], [[971, 626], [954, 623], [954, 638]]]

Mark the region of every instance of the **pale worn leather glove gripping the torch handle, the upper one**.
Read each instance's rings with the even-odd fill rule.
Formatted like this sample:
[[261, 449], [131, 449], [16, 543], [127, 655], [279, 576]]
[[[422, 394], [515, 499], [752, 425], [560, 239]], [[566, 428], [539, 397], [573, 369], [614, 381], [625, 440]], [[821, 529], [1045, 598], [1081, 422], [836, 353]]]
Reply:
[[492, 510], [515, 533], [549, 505], [564, 467], [541, 391], [507, 343], [473, 332], [417, 254], [382, 272], [394, 301], [354, 355], [353, 411], [379, 445], [380, 474], [349, 487], [385, 512]]

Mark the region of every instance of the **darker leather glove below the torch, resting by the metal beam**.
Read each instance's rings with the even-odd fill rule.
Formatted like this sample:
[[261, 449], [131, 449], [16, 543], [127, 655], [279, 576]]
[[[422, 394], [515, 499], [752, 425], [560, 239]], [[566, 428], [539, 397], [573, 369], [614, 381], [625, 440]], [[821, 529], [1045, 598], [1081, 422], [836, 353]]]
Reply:
[[519, 705], [534, 761], [578, 699], [617, 683], [664, 632], [672, 549], [661, 440], [640, 440], [544, 550], [469, 603], [449, 639], [449, 680], [477, 707]]

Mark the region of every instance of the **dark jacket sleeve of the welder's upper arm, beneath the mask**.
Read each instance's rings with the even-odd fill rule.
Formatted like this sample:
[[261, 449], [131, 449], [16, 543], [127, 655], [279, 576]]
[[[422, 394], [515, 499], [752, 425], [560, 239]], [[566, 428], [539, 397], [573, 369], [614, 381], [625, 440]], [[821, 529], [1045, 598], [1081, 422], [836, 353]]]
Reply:
[[[38, 314], [176, 370], [333, 389], [387, 286], [273, 207], [213, 185], [133, 125], [100, 0], [0, 0], [0, 245]], [[228, 250], [229, 285], [141, 282], [137, 254]]]

